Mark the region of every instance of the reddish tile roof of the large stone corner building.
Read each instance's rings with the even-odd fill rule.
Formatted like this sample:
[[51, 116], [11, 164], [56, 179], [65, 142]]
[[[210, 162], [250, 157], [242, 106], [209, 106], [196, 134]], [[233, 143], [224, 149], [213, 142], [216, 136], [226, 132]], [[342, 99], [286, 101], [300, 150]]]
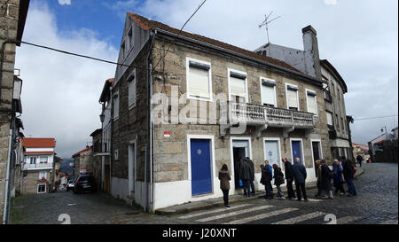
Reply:
[[[177, 29], [175, 27], [169, 27], [168, 25], [165, 25], [165, 24], [160, 23], [158, 21], [148, 20], [145, 17], [138, 15], [137, 13], [128, 12], [128, 14], [130, 15], [130, 17], [133, 20], [135, 20], [137, 22], [137, 25], [139, 25], [140, 27], [142, 27], [145, 30], [160, 28], [160, 29], [166, 30], [166, 31], [174, 33], [174, 34], [178, 34], [179, 31], [180, 31], [179, 29]], [[202, 36], [202, 35], [195, 35], [195, 34], [192, 34], [192, 33], [185, 32], [185, 31], [180, 32], [180, 35], [195, 39], [195, 40], [200, 41], [202, 43], [208, 43], [208, 44], [215, 45], [215, 46], [223, 48], [223, 49], [225, 49], [227, 51], [233, 51], [233, 52], [236, 52], [236, 53], [241, 54], [241, 55], [245, 55], [245, 56], [250, 57], [250, 58], [258, 59], [258, 60], [270, 63], [270, 64], [275, 65], [275, 66], [284, 67], [286, 69], [289, 69], [289, 70], [292, 70], [292, 71], [295, 71], [297, 73], [302, 74], [299, 70], [295, 69], [293, 66], [290, 66], [290, 65], [286, 64], [286, 62], [284, 62], [284, 61], [281, 61], [281, 60], [278, 60], [278, 59], [272, 59], [270, 57], [266, 57], [266, 56], [263, 56], [261, 54], [258, 54], [258, 53], [254, 52], [254, 51], [248, 51], [248, 50], [239, 48], [237, 46], [231, 45], [229, 43], [223, 43], [223, 42], [211, 39], [211, 38], [207, 38], [207, 37]]]

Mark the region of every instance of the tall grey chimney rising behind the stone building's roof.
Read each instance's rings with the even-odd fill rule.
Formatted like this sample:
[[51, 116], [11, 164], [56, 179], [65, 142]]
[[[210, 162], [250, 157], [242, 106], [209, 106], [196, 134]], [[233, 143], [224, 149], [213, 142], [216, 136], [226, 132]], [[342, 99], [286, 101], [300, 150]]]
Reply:
[[302, 34], [306, 74], [321, 79], [317, 32], [309, 25], [302, 28]]

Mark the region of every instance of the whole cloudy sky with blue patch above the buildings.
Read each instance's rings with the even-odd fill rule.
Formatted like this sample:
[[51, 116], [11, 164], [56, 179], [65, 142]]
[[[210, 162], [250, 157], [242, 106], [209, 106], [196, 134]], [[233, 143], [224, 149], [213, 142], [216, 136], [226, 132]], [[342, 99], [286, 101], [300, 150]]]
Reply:
[[[31, 0], [23, 41], [116, 61], [126, 12], [180, 28], [202, 0]], [[397, 114], [398, 2], [395, 0], [207, 0], [185, 31], [254, 50], [270, 42], [302, 49], [301, 28], [316, 28], [321, 59], [329, 59], [347, 82], [347, 114], [353, 141], [366, 144], [388, 132]], [[69, 158], [100, 127], [98, 98], [115, 66], [22, 44], [16, 68], [24, 80], [22, 121], [26, 137], [56, 137]]]

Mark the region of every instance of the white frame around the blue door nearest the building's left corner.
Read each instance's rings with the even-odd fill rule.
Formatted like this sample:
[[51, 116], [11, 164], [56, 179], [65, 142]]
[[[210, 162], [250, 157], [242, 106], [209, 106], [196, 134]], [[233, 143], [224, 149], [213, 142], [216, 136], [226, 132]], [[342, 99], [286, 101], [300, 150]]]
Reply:
[[[210, 193], [207, 193], [205, 195], [200, 195], [200, 196], [192, 196], [192, 149], [191, 149], [191, 140], [193, 138], [197, 139], [208, 139], [210, 140], [211, 143], [211, 178], [212, 178], [212, 191]], [[188, 161], [188, 166], [187, 166], [187, 172], [188, 172], [188, 181], [190, 183], [190, 196], [192, 201], [195, 200], [200, 200], [200, 199], [206, 199], [207, 197], [211, 198], [215, 196], [215, 181], [217, 179], [216, 177], [216, 172], [215, 172], [215, 136], [209, 136], [209, 135], [187, 135], [187, 161]]]

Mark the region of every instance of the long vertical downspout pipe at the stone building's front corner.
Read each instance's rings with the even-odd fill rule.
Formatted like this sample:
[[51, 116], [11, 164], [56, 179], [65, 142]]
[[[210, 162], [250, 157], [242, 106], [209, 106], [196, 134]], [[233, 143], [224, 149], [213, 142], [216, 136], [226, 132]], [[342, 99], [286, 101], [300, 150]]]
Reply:
[[[153, 51], [153, 41], [155, 39], [155, 35], [157, 34], [156, 30], [152, 30], [150, 32], [151, 44], [148, 51], [147, 56], [147, 85], [148, 85], [148, 92], [147, 92], [147, 102], [149, 108], [147, 113], [147, 137], [148, 137], [148, 161], [145, 164], [149, 163], [150, 167], [150, 192], [145, 194], [146, 199], [146, 207], [149, 207], [150, 211], [153, 211], [153, 105], [152, 105], [152, 98], [153, 98], [153, 65], [152, 65], [152, 51]], [[145, 182], [147, 182], [147, 168], [145, 168]], [[147, 186], [148, 188], [148, 186]], [[149, 199], [148, 199], [149, 197]], [[148, 200], [147, 200], [148, 199]]]

